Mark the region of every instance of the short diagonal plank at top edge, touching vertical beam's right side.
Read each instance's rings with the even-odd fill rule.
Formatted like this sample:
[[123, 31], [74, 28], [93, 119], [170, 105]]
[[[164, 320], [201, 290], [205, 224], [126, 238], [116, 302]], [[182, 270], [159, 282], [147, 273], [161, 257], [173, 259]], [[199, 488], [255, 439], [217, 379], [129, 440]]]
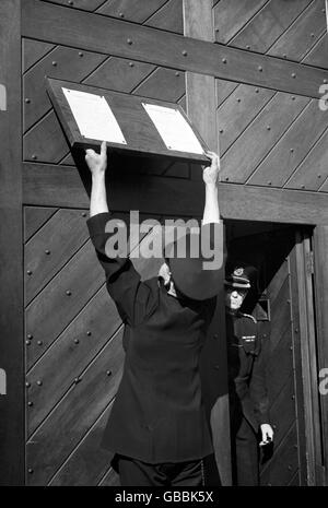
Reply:
[[216, 42], [227, 44], [268, 0], [221, 0], [214, 7]]

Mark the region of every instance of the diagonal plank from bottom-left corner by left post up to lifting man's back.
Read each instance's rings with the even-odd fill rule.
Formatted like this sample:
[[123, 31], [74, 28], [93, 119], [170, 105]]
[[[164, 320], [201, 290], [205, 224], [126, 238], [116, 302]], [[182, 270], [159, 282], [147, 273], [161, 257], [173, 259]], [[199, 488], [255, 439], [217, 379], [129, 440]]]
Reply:
[[[101, 416], [121, 378], [124, 351], [120, 330], [73, 385], [27, 441], [30, 485], [48, 483], [69, 453]], [[107, 371], [112, 375], [108, 376]]]

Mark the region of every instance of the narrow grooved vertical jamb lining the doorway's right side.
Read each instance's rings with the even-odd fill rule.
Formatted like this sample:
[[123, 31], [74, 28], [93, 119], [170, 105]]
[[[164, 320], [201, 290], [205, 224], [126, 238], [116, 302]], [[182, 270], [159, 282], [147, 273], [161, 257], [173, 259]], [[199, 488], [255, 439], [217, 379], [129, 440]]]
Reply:
[[[292, 291], [296, 298], [296, 314], [292, 316], [295, 362], [301, 363], [302, 382], [297, 379], [296, 391], [303, 400], [296, 401], [298, 432], [305, 435], [305, 457], [298, 450], [301, 482], [308, 486], [325, 485], [323, 462], [323, 433], [318, 397], [318, 357], [319, 341], [316, 327], [317, 302], [314, 294], [316, 282], [313, 269], [313, 232], [300, 228], [295, 235], [295, 249], [291, 259]], [[298, 356], [298, 358], [297, 358]], [[297, 397], [297, 394], [296, 394]], [[302, 422], [303, 420], [303, 422]], [[302, 471], [303, 468], [303, 471]]]

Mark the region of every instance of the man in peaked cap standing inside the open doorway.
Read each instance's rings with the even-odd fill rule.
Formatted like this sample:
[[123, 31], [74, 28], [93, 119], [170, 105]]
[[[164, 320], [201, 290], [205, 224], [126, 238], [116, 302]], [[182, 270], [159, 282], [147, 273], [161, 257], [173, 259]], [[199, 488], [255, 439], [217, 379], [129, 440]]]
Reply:
[[225, 307], [234, 485], [258, 485], [257, 436], [260, 435], [260, 446], [273, 439], [268, 414], [266, 362], [257, 321], [241, 310], [250, 291], [257, 291], [256, 268], [227, 261]]

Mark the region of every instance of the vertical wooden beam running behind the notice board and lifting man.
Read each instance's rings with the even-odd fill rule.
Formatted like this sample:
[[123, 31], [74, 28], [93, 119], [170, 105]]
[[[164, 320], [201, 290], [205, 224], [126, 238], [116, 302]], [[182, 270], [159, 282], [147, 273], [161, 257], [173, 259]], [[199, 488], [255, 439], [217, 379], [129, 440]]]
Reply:
[[[201, 40], [214, 42], [212, 2], [208, 0], [184, 0], [184, 35]], [[208, 143], [219, 153], [216, 127], [215, 78], [186, 72], [187, 114]], [[201, 180], [200, 167], [194, 167], [191, 178]], [[202, 186], [202, 181], [200, 182]], [[223, 272], [223, 271], [222, 271]], [[223, 273], [222, 273], [223, 288]], [[226, 371], [226, 341], [223, 292], [209, 331], [202, 355], [203, 389], [214, 401], [211, 411], [211, 428], [216, 465], [223, 485], [231, 485], [230, 416]], [[215, 338], [213, 340], [213, 338]], [[213, 371], [214, 369], [214, 371]], [[213, 386], [216, 383], [218, 386]], [[214, 400], [213, 394], [216, 393]]]

